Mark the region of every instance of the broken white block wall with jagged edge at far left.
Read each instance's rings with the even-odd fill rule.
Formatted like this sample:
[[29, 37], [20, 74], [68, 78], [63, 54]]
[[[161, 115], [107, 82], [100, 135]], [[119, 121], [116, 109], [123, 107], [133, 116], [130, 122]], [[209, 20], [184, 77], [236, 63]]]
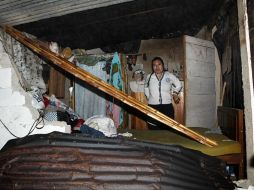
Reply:
[[[15, 138], [29, 134], [34, 122], [39, 118], [38, 111], [32, 106], [32, 97], [21, 87], [18, 69], [13, 67], [10, 56], [3, 45], [0, 31], [0, 149]], [[44, 126], [43, 126], [44, 125]], [[70, 132], [70, 127], [63, 122], [41, 122], [31, 134], [45, 134], [52, 131]], [[8, 131], [8, 130], [9, 131]], [[11, 133], [10, 133], [11, 132]]]

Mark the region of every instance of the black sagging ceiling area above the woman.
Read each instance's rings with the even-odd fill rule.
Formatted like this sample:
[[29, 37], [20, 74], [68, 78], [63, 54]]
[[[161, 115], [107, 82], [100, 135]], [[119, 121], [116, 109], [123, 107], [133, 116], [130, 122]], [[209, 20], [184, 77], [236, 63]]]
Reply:
[[62, 47], [92, 49], [150, 38], [195, 35], [211, 21], [218, 3], [219, 0], [118, 1], [118, 4], [77, 9], [79, 12], [14, 25]]

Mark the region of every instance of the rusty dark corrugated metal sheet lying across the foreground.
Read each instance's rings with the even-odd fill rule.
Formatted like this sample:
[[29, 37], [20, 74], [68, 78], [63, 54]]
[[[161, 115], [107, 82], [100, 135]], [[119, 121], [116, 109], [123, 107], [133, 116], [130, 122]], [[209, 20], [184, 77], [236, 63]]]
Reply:
[[234, 189], [222, 161], [178, 146], [52, 133], [10, 141], [0, 189]]

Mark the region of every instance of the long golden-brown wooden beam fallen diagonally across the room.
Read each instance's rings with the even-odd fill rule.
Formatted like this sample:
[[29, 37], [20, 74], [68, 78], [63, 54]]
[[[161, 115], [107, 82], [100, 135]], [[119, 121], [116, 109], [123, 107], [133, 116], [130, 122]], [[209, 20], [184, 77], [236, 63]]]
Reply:
[[185, 127], [184, 125], [176, 122], [175, 120], [169, 118], [168, 116], [162, 114], [161, 112], [147, 106], [146, 104], [136, 100], [131, 96], [126, 95], [122, 91], [117, 90], [116, 88], [104, 82], [103, 80], [93, 76], [89, 72], [84, 71], [83, 69], [73, 65], [73, 63], [69, 62], [68, 60], [51, 52], [48, 48], [38, 44], [35, 40], [26, 37], [23, 33], [14, 29], [13, 27], [5, 26], [4, 30], [6, 33], [11, 35], [13, 38], [18, 40], [25, 46], [29, 47], [34, 52], [46, 57], [47, 59], [52, 61], [55, 65], [64, 69], [66, 72], [74, 75], [75, 77], [87, 82], [88, 84], [98, 88], [99, 90], [109, 94], [110, 96], [117, 98], [121, 102], [143, 112], [144, 114], [150, 116], [151, 118], [166, 124], [167, 126], [187, 135], [188, 137], [204, 145], [210, 147], [217, 146], [216, 141], [213, 141], [195, 131], [192, 131], [190, 128]]

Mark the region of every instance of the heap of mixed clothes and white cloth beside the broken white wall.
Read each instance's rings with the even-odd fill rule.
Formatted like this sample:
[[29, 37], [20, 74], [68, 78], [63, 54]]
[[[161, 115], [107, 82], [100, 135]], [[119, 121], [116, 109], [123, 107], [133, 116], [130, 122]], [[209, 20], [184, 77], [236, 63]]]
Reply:
[[72, 133], [84, 133], [92, 137], [116, 137], [117, 130], [111, 118], [95, 115], [87, 120], [79, 117], [69, 106], [57, 99], [42, 95], [37, 87], [31, 91], [32, 105], [47, 121], [65, 121], [72, 128]]

